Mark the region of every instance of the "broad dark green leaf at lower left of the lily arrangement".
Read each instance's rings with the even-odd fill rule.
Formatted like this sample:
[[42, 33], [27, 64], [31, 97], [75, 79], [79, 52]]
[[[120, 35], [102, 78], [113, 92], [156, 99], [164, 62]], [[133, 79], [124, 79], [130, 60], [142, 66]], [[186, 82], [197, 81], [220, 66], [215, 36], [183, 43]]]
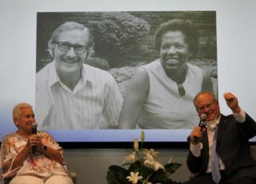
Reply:
[[128, 170], [118, 165], [110, 165], [107, 175], [108, 184], [128, 184], [129, 181], [126, 179], [128, 175], [130, 175]]

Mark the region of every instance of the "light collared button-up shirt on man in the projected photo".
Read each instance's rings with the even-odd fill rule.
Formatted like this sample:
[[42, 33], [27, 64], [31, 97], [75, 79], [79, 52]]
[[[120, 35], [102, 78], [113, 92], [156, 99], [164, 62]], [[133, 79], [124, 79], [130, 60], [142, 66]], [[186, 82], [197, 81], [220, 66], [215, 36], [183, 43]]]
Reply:
[[118, 124], [122, 106], [111, 74], [84, 65], [73, 91], [61, 83], [55, 62], [37, 73], [36, 118], [44, 129], [108, 129]]

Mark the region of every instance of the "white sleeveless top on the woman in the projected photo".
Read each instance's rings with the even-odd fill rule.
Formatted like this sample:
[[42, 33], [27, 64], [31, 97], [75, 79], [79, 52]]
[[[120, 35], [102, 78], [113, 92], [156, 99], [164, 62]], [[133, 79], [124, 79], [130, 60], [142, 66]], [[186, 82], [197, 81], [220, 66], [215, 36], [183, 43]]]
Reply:
[[148, 72], [149, 92], [138, 120], [138, 128], [193, 129], [198, 124], [193, 99], [201, 92], [203, 72], [198, 66], [187, 65], [183, 96], [178, 93], [177, 83], [166, 75], [160, 60], [142, 66]]

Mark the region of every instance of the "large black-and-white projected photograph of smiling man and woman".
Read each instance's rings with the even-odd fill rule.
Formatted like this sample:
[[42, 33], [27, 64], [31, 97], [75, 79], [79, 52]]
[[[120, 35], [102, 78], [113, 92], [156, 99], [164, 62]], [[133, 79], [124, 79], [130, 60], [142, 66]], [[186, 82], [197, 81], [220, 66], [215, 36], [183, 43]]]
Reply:
[[192, 129], [216, 37], [215, 11], [38, 13], [38, 127]]

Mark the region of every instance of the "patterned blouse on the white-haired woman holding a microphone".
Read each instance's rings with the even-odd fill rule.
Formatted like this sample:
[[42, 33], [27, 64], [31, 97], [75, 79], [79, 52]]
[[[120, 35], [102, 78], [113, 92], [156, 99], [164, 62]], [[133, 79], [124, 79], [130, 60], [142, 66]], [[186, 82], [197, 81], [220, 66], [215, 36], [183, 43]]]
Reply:
[[[38, 135], [42, 137], [42, 143], [47, 147], [53, 148], [61, 152], [63, 157], [63, 149], [54, 141], [51, 135], [45, 131], [39, 131]], [[3, 136], [1, 145], [1, 162], [3, 166], [3, 175], [5, 177], [14, 177], [15, 175], [34, 175], [41, 178], [49, 178], [51, 175], [67, 175], [65, 163], [59, 164], [55, 160], [47, 158], [43, 152], [36, 152], [34, 155], [30, 153], [23, 164], [12, 169], [15, 157], [26, 146], [27, 138], [11, 133]], [[10, 164], [9, 170], [4, 168], [5, 164]]]

